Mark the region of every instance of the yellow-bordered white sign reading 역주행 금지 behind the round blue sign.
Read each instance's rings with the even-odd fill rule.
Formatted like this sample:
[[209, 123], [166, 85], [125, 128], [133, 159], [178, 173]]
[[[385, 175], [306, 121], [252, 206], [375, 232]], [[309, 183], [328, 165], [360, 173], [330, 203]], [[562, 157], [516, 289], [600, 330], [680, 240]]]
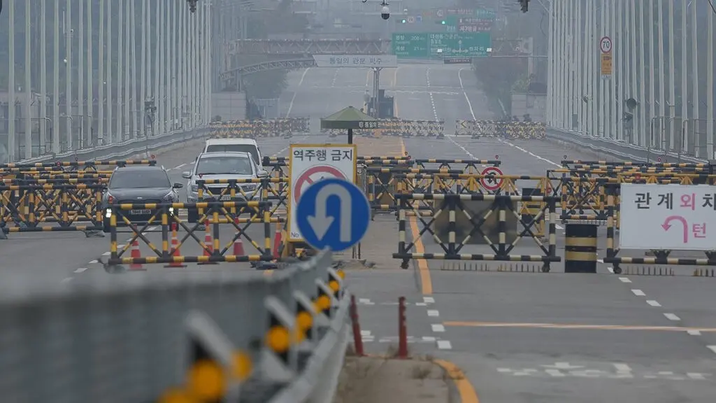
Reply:
[[358, 151], [355, 144], [291, 144], [289, 154], [289, 241], [303, 240], [292, 212], [301, 194], [321, 179], [339, 178], [355, 183]]

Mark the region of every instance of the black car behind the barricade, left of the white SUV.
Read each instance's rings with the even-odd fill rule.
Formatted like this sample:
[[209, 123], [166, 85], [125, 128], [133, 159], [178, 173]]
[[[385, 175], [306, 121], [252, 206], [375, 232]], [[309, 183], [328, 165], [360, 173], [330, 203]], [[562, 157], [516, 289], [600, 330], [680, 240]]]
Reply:
[[[167, 171], [159, 166], [125, 166], [115, 169], [102, 196], [102, 215], [105, 232], [110, 231], [110, 204], [123, 203], [178, 203], [182, 184], [172, 184]], [[125, 210], [122, 214], [132, 224], [146, 224], [156, 211], [150, 209]], [[170, 214], [173, 212], [170, 210]], [[158, 220], [155, 219], [159, 223]], [[117, 217], [117, 226], [125, 225], [121, 217]]]

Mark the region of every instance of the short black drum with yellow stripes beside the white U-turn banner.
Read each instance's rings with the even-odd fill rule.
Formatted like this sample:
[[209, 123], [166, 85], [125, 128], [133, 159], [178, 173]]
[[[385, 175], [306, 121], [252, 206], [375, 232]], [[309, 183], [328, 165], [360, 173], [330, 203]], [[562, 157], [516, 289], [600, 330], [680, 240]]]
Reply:
[[566, 224], [564, 272], [596, 273], [597, 225]]

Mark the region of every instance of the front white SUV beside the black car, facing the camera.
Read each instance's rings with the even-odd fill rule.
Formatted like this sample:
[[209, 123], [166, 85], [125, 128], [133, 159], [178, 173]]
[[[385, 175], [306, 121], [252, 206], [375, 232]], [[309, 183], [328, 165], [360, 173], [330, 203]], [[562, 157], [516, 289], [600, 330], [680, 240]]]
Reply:
[[[196, 181], [199, 179], [258, 179], [267, 178], [269, 173], [261, 169], [250, 153], [223, 152], [223, 153], [201, 153], [194, 163], [191, 171], [182, 172], [181, 176], [188, 179], [187, 201], [196, 203], [199, 200], [199, 186]], [[226, 184], [207, 184], [203, 191], [202, 199], [216, 199], [226, 189]], [[261, 191], [258, 184], [239, 184], [243, 194], [238, 193], [233, 201], [260, 201]], [[208, 191], [207, 191], [208, 189]], [[245, 195], [244, 195], [245, 194]], [[216, 195], [216, 196], [214, 196]], [[221, 200], [230, 201], [228, 194], [221, 197]], [[196, 209], [189, 209], [189, 222], [196, 222], [199, 218]]]

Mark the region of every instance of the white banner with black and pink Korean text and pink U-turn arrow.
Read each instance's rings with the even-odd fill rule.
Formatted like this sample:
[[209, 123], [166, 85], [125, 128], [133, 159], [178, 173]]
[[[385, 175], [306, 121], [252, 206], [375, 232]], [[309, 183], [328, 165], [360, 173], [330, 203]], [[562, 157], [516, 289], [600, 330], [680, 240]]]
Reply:
[[622, 184], [619, 247], [716, 250], [716, 186]]

